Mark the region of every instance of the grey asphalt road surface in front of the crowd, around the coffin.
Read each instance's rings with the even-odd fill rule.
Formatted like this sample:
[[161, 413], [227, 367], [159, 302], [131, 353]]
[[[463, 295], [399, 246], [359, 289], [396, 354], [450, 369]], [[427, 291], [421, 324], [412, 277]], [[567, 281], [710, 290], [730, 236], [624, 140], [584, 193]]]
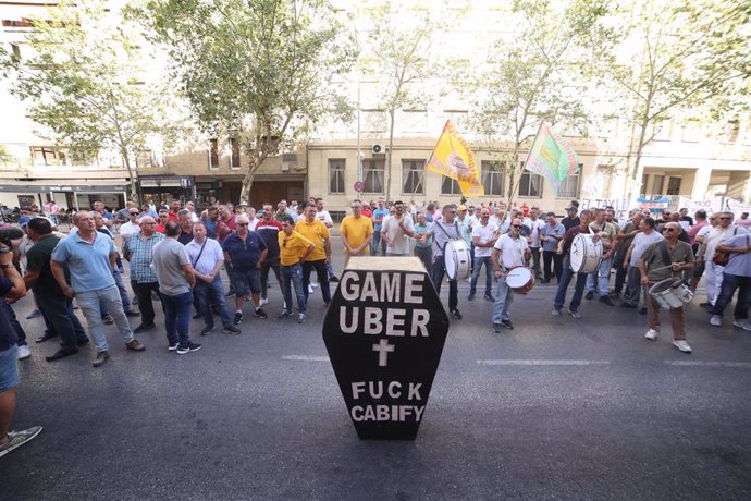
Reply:
[[[0, 498], [751, 498], [751, 333], [729, 315], [713, 328], [690, 305], [685, 355], [669, 327], [644, 340], [631, 309], [595, 301], [582, 319], [552, 317], [550, 285], [517, 296], [516, 329], [498, 334], [491, 304], [466, 294], [414, 442], [357, 438], [318, 291], [303, 326], [271, 315], [276, 285], [270, 318], [247, 308], [239, 337], [200, 338], [194, 320], [204, 349], [184, 356], [158, 329], [133, 353], [109, 327], [101, 368], [93, 347], [47, 363], [54, 341], [32, 341], [14, 427], [45, 430], [0, 459]], [[29, 308], [16, 305], [33, 340]]]

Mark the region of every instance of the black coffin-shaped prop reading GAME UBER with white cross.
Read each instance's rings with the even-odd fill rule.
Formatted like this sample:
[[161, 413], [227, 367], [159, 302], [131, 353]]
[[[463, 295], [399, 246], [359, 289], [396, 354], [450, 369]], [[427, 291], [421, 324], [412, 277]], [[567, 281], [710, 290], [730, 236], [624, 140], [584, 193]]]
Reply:
[[323, 320], [323, 342], [360, 439], [415, 440], [448, 333], [416, 257], [353, 257]]

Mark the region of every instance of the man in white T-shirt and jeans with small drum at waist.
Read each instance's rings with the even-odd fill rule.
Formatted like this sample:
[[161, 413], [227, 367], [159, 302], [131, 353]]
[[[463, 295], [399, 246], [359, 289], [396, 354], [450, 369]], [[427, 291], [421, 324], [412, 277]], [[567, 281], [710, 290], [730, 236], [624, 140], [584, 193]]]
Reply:
[[[493, 304], [493, 332], [501, 332], [502, 327], [508, 330], [514, 329], [512, 319], [508, 317], [508, 308], [514, 301], [514, 292], [509, 284], [506, 283], [506, 279], [509, 270], [524, 267], [525, 259], [529, 260], [532, 257], [527, 240], [519, 237], [520, 230], [521, 220], [514, 219], [508, 233], [502, 235], [493, 246], [491, 259], [493, 261], [495, 280], [497, 281], [495, 303]], [[529, 273], [529, 279], [533, 282], [534, 277]]]

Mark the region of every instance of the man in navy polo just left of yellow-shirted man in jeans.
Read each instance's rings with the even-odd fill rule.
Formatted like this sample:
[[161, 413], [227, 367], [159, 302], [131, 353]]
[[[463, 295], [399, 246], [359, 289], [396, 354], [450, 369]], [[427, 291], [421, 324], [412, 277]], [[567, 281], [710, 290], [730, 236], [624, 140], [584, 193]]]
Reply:
[[268, 253], [266, 242], [261, 235], [248, 230], [247, 216], [235, 218], [237, 231], [231, 233], [222, 243], [224, 262], [232, 267], [232, 285], [235, 290], [235, 318], [234, 323], [243, 321], [243, 305], [248, 293], [253, 297], [255, 315], [268, 318], [261, 309], [261, 264]]

